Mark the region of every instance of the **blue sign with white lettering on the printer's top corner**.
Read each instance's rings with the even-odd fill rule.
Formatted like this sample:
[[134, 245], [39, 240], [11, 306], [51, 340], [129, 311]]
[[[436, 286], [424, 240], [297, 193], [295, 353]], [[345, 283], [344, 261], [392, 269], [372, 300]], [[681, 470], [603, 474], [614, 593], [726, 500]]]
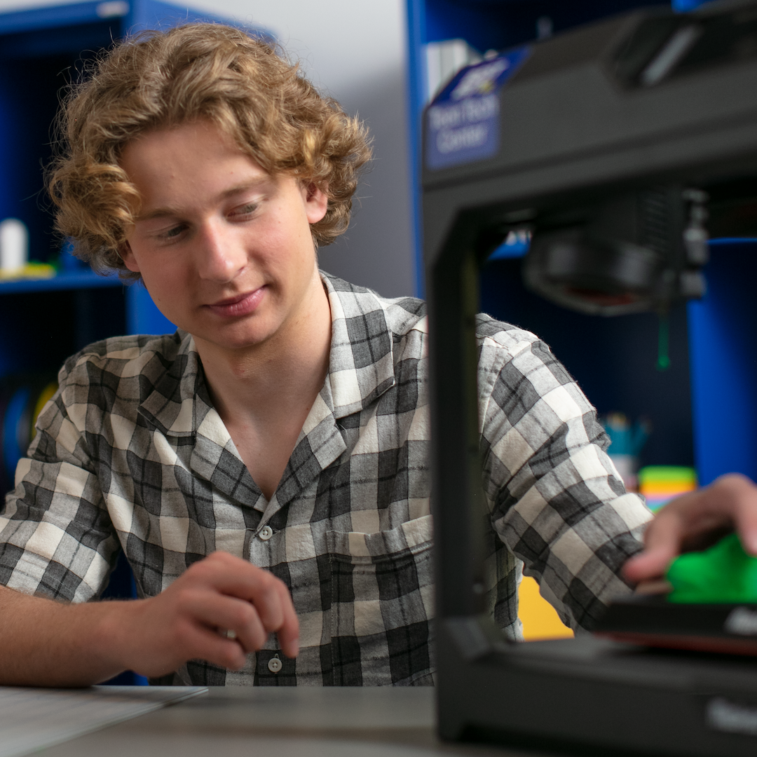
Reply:
[[528, 56], [528, 47], [463, 68], [426, 111], [425, 163], [438, 169], [471, 163], [500, 148], [500, 87]]

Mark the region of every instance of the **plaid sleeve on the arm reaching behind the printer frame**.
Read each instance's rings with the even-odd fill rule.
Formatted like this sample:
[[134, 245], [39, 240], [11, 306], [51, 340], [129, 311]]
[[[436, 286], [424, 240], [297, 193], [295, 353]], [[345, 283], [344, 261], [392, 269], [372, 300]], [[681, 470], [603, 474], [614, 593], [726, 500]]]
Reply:
[[479, 395], [484, 491], [494, 531], [573, 628], [629, 593], [622, 565], [652, 517], [625, 491], [597, 414], [549, 347], [483, 316]]

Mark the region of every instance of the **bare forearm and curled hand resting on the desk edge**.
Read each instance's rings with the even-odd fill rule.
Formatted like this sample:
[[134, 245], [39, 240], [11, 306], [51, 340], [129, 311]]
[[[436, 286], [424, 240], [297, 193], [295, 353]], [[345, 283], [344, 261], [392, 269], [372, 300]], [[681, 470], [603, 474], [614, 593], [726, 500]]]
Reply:
[[67, 605], [0, 587], [0, 684], [87, 686], [124, 670], [170, 673], [190, 659], [238, 669], [271, 633], [297, 656], [287, 587], [223, 552], [148, 600]]

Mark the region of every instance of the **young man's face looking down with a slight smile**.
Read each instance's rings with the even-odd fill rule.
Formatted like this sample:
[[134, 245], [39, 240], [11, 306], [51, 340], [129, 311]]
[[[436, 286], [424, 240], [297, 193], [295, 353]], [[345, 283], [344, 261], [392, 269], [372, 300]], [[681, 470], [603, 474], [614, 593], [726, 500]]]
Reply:
[[120, 164], [142, 198], [123, 262], [198, 347], [251, 347], [303, 325], [324, 296], [310, 235], [323, 192], [269, 176], [205, 121], [139, 136]]

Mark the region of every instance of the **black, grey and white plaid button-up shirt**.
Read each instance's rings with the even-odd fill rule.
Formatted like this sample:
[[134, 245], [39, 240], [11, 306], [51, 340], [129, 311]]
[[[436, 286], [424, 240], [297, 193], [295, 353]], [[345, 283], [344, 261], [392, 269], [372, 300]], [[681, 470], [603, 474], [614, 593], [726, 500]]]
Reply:
[[[323, 280], [329, 375], [271, 500], [213, 409], [190, 335], [109, 339], [67, 361], [39, 416], [0, 516], [0, 581], [91, 600], [123, 549], [139, 596], [152, 597], [226, 550], [290, 588], [300, 656], [272, 636], [239, 672], [193, 661], [162, 683], [430, 684], [424, 305]], [[478, 334], [491, 612], [519, 636], [525, 561], [565, 621], [590, 625], [628, 591], [618, 570], [649, 513], [625, 494], [593, 408], [548, 348], [488, 316]]]

